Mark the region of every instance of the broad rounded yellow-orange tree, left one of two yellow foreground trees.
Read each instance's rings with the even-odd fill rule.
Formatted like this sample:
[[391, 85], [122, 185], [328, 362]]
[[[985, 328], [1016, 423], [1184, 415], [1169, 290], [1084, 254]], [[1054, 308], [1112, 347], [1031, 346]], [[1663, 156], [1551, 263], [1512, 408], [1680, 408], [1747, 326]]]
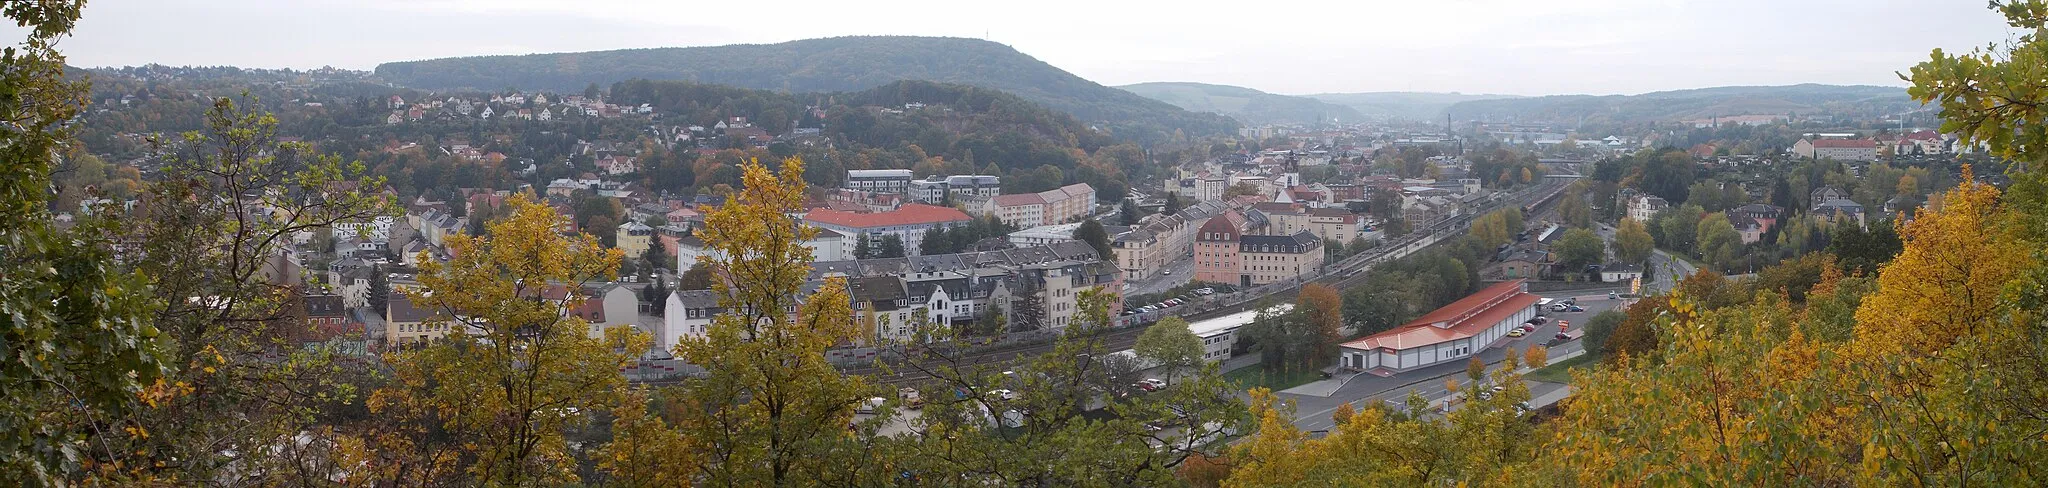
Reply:
[[[590, 234], [557, 236], [563, 223], [551, 207], [514, 195], [492, 238], [451, 236], [449, 262], [420, 265], [420, 289], [408, 291], [436, 310], [426, 328], [446, 330], [416, 351], [391, 357], [395, 383], [371, 396], [371, 412], [401, 418], [399, 431], [375, 433], [371, 445], [403, 449], [432, 439], [467, 459], [463, 472], [496, 484], [575, 482], [563, 433], [584, 422], [578, 412], [616, 408], [625, 377], [616, 371], [649, 338], [633, 328], [592, 334], [575, 314], [588, 295], [582, 283], [616, 277], [625, 258]], [[434, 480], [379, 465], [397, 484]]]

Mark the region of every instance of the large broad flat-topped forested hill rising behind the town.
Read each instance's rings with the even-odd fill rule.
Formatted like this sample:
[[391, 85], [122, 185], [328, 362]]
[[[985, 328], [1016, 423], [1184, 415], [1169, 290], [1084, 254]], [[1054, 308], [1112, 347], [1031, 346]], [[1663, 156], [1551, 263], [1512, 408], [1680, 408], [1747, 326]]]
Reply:
[[1001, 43], [954, 37], [829, 37], [772, 45], [444, 57], [383, 64], [377, 76], [426, 90], [582, 90], [643, 78], [852, 92], [897, 80], [932, 80], [1012, 92], [1133, 141], [1159, 141], [1176, 131], [1200, 137], [1237, 129], [1229, 117], [1182, 111], [1090, 82]]

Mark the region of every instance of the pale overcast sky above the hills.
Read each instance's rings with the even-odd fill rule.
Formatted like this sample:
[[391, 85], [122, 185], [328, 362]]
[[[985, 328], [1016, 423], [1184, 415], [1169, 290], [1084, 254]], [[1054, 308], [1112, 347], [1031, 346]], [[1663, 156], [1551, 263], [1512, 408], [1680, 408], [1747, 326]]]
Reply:
[[74, 66], [354, 70], [836, 35], [987, 37], [1112, 86], [1282, 94], [1903, 86], [1894, 72], [1933, 47], [2013, 35], [1985, 0], [92, 0], [74, 33], [61, 43]]

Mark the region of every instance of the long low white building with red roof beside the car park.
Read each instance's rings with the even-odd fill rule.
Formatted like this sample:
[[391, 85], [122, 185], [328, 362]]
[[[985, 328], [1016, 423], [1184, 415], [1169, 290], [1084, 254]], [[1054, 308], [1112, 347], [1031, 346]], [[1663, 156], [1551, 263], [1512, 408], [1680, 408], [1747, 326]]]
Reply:
[[1337, 367], [1384, 375], [1473, 357], [1536, 318], [1538, 299], [1526, 281], [1501, 281], [1393, 330], [1339, 344]]

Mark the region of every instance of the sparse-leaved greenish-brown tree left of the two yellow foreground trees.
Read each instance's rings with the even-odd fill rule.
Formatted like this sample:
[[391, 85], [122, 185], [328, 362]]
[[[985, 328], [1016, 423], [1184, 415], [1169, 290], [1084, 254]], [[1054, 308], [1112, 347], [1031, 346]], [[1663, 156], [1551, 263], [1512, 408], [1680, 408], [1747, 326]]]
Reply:
[[[332, 476], [336, 437], [324, 410], [360, 402], [360, 371], [342, 369], [330, 342], [367, 340], [313, 330], [297, 299], [313, 283], [285, 273], [295, 234], [362, 221], [395, 211], [362, 164], [313, 154], [276, 137], [276, 117], [256, 100], [213, 98], [205, 129], [184, 133], [180, 152], [143, 187], [145, 211], [109, 228], [123, 242], [115, 258], [150, 279], [156, 303], [150, 326], [168, 338], [178, 369], [172, 390], [150, 410], [102, 418], [150, 435], [104, 435], [100, 463], [150, 465], [158, 480], [274, 484], [295, 476]], [[147, 256], [147, 258], [139, 258]], [[223, 451], [266, 449], [238, 459]]]

